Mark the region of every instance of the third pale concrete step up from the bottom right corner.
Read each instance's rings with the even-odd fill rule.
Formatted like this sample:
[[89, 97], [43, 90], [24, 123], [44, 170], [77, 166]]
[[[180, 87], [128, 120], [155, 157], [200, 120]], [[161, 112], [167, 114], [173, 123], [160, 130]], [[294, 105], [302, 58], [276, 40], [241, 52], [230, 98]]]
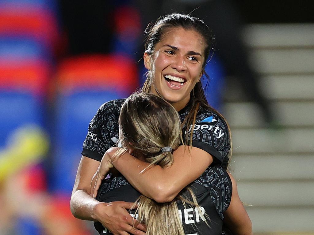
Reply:
[[[233, 154], [229, 163], [236, 180], [314, 180], [313, 154]], [[313, 200], [314, 203], [314, 200]]]

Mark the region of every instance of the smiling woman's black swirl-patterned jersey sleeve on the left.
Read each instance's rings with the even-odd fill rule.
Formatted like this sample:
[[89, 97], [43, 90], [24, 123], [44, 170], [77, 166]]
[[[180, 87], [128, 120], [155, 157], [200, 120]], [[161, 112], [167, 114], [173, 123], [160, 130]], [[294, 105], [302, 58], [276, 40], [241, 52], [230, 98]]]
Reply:
[[101, 161], [106, 150], [112, 146], [109, 138], [111, 114], [114, 101], [109, 101], [100, 106], [94, 118], [90, 121], [88, 132], [83, 144], [82, 155]]

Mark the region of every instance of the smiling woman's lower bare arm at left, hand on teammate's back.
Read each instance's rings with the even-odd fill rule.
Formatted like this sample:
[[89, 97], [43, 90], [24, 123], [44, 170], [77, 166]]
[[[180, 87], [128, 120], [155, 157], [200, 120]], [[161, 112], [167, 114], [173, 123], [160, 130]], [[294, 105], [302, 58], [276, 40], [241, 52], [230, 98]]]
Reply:
[[89, 196], [90, 180], [99, 164], [99, 161], [82, 156], [70, 201], [73, 216], [84, 220], [99, 221], [115, 235], [126, 234], [126, 232], [144, 235], [143, 225], [139, 224], [137, 229], [133, 228], [133, 217], [127, 212], [133, 202], [105, 203]]

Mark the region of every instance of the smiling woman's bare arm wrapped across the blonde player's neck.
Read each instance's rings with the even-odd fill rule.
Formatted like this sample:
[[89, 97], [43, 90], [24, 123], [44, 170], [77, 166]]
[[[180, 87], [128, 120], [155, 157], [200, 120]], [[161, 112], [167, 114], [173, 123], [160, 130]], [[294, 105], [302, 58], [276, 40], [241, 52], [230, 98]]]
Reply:
[[190, 154], [187, 146], [179, 146], [173, 156], [174, 163], [170, 167], [162, 168], [154, 165], [143, 173], [141, 171], [149, 163], [128, 153], [114, 159], [112, 164], [140, 193], [162, 203], [174, 199], [185, 186], [196, 180], [213, 162], [210, 154], [195, 147], [192, 147]]

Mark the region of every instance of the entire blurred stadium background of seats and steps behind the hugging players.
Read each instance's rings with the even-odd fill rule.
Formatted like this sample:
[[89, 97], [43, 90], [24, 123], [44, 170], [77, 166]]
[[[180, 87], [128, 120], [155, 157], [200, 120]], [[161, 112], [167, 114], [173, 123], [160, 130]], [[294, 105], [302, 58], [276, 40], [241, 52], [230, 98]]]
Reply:
[[69, 210], [89, 122], [143, 84], [147, 24], [192, 11], [215, 34], [206, 94], [231, 126], [254, 234], [314, 234], [313, 6], [1, 0], [0, 234], [96, 234]]

